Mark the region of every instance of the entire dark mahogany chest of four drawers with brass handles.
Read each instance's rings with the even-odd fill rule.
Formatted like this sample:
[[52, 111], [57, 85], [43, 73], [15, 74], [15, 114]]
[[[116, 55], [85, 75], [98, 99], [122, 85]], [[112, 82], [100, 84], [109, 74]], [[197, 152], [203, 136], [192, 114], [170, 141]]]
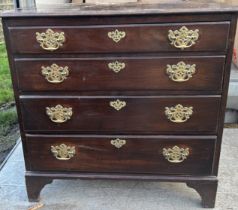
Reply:
[[53, 179], [184, 182], [214, 207], [237, 7], [3, 15], [29, 200]]

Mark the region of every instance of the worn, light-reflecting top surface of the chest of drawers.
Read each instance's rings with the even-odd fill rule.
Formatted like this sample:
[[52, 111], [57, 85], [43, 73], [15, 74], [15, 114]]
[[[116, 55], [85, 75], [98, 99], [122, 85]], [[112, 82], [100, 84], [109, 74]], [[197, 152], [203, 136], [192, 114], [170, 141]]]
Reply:
[[232, 0], [138, 0], [122, 4], [52, 4], [40, 8], [7, 11], [3, 17], [136, 15], [136, 14], [199, 14], [238, 12], [238, 3]]

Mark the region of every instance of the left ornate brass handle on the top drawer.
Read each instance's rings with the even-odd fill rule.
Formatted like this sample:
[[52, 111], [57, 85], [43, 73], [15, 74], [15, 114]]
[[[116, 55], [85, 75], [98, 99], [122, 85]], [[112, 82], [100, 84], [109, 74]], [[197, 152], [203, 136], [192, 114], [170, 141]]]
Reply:
[[36, 40], [44, 50], [54, 51], [63, 46], [65, 42], [64, 32], [54, 32], [47, 29], [46, 32], [36, 32]]

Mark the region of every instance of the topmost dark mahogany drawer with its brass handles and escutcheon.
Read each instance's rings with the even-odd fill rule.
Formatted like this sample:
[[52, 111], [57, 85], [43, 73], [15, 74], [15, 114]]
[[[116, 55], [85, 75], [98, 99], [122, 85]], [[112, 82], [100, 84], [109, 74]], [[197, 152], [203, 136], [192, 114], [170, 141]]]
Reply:
[[10, 27], [14, 53], [226, 51], [230, 22]]

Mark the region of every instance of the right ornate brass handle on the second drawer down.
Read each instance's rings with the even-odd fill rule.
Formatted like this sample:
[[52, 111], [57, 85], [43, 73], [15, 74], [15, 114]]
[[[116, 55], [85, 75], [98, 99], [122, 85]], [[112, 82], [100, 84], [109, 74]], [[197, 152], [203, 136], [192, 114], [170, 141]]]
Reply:
[[167, 65], [166, 73], [174, 82], [185, 82], [193, 77], [196, 72], [196, 64], [185, 64], [183, 61], [176, 65]]

